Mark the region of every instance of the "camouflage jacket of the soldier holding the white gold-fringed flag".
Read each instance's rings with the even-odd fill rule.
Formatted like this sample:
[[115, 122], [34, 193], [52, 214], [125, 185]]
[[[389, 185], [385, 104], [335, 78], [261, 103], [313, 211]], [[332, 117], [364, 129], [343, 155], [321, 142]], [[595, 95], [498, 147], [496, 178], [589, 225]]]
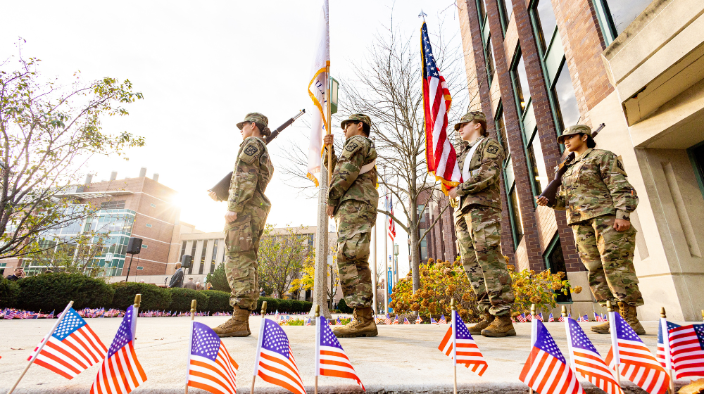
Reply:
[[[325, 147], [325, 168], [327, 168], [327, 146]], [[367, 203], [374, 208], [379, 204], [377, 191], [377, 167], [360, 174], [363, 165], [372, 163], [377, 158], [377, 151], [372, 140], [365, 136], [351, 136], [339, 158], [332, 151], [332, 181], [327, 193], [327, 204], [338, 207], [347, 200]], [[337, 210], [337, 208], [336, 208]]]

